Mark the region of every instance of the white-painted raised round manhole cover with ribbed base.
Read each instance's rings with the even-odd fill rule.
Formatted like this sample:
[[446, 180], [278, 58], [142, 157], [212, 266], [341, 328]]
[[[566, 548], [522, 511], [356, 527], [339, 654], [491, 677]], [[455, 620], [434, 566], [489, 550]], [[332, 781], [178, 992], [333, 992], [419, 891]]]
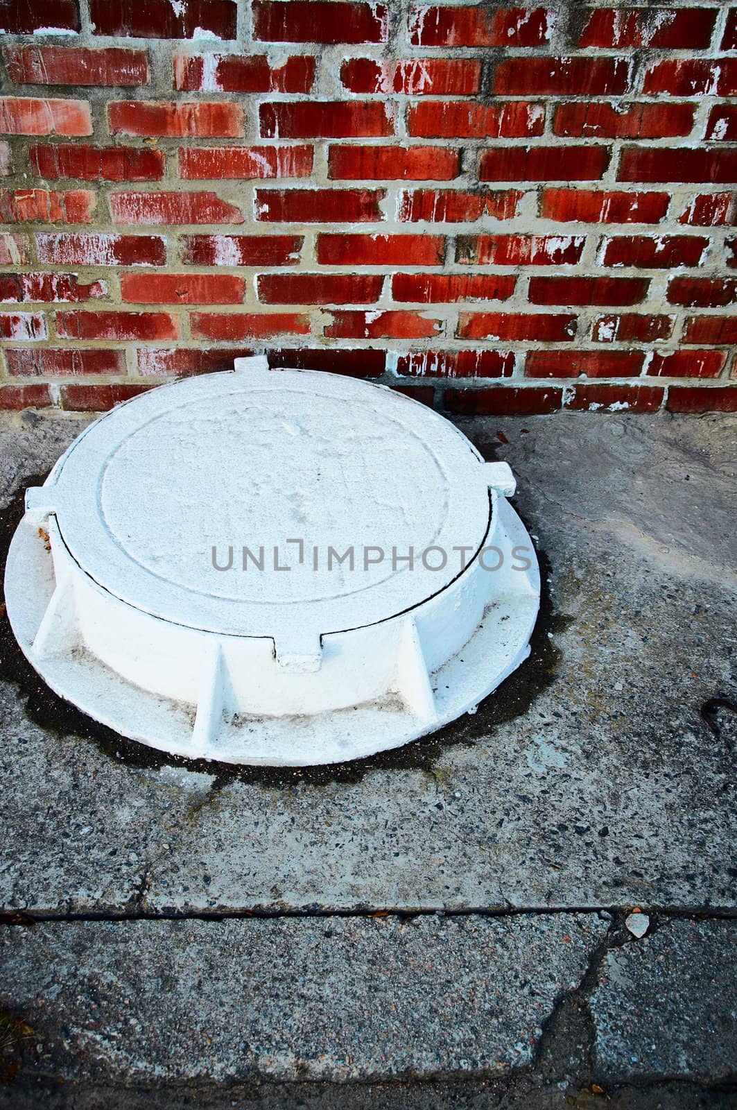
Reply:
[[239, 360], [107, 413], [28, 491], [8, 615], [58, 694], [151, 747], [354, 759], [528, 654], [539, 575], [513, 492], [414, 401]]

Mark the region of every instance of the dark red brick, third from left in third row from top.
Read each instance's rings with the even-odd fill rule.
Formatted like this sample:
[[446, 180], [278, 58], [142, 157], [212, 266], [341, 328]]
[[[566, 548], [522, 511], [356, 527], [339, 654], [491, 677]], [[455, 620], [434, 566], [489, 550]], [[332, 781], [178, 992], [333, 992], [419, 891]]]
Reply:
[[361, 139], [394, 134], [393, 110], [367, 100], [311, 100], [262, 104], [261, 134], [265, 139]]

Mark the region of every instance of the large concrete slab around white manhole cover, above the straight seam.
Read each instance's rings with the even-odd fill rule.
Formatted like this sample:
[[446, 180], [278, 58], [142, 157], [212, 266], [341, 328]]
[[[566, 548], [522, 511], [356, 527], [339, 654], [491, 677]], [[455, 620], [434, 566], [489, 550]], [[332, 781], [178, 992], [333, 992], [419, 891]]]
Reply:
[[[6, 500], [81, 425], [6, 417]], [[30, 700], [13, 682], [0, 693], [0, 905], [734, 906], [735, 717], [718, 709], [716, 734], [700, 707], [734, 697], [736, 427], [466, 422], [518, 475], [553, 601], [531, 659], [475, 716], [394, 755], [317, 773], [178, 765], [48, 695], [6, 635], [3, 673]]]

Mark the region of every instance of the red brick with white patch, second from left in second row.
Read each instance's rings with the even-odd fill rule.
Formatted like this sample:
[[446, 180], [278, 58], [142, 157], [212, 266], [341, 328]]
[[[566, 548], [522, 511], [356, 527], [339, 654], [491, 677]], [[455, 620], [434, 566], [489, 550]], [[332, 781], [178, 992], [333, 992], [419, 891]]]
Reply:
[[270, 65], [265, 54], [174, 54], [180, 92], [310, 92], [315, 59], [287, 58]]

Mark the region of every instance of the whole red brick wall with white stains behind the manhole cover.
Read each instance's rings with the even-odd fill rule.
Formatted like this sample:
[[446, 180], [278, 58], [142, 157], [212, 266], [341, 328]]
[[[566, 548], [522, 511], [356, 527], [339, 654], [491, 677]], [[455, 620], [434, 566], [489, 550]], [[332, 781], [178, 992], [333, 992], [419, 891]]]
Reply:
[[736, 407], [737, 8], [0, 0], [0, 405]]

